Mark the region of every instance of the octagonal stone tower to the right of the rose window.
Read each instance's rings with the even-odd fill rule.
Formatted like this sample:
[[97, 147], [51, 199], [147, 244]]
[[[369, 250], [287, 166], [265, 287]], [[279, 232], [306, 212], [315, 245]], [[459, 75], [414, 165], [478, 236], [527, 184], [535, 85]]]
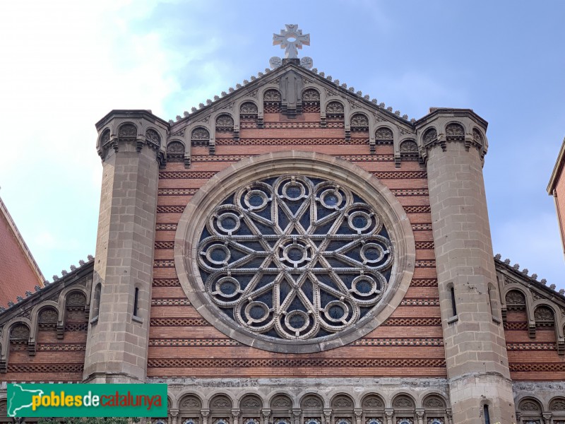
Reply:
[[417, 122], [429, 201], [454, 423], [515, 423], [482, 164], [484, 122], [432, 109]]

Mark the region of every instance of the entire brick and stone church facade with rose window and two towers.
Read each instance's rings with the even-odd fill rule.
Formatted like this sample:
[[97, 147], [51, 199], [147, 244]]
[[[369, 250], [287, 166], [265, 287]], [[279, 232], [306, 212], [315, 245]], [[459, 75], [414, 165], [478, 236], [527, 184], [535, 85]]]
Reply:
[[565, 423], [565, 296], [494, 257], [487, 122], [310, 68], [97, 122], [95, 257], [0, 312], [1, 382], [165, 382], [153, 423]]

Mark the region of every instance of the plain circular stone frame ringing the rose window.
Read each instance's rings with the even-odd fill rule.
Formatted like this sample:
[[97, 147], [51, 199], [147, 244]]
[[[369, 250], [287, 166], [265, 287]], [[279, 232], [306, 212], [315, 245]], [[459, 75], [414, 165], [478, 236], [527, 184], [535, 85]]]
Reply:
[[[278, 339], [237, 326], [208, 298], [196, 260], [198, 243], [210, 211], [240, 187], [280, 175], [299, 174], [333, 180], [349, 187], [379, 213], [396, 259], [383, 298], [350, 328], [307, 340]], [[194, 194], [184, 209], [174, 237], [174, 265], [186, 297], [198, 313], [226, 336], [271, 352], [312, 353], [345, 346], [382, 324], [403, 300], [415, 268], [412, 226], [396, 196], [357, 165], [323, 153], [286, 151], [251, 156], [218, 172]]]

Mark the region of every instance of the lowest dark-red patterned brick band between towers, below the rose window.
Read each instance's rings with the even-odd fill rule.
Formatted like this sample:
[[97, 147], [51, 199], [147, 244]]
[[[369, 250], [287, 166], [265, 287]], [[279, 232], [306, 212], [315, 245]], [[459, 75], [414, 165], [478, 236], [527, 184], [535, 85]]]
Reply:
[[[380, 359], [380, 358], [195, 358], [150, 359], [151, 368], [249, 368], [249, 367], [445, 367], [444, 359]], [[565, 364], [564, 364], [565, 367]]]

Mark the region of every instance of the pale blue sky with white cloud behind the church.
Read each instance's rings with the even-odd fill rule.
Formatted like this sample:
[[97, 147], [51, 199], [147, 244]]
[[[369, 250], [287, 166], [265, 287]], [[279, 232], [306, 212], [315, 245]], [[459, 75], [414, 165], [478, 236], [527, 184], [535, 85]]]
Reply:
[[165, 120], [282, 57], [299, 57], [418, 119], [465, 107], [489, 122], [484, 181], [494, 252], [565, 288], [546, 192], [565, 136], [565, 2], [2, 1], [0, 196], [44, 276], [95, 254], [102, 165], [95, 122], [112, 109]]

